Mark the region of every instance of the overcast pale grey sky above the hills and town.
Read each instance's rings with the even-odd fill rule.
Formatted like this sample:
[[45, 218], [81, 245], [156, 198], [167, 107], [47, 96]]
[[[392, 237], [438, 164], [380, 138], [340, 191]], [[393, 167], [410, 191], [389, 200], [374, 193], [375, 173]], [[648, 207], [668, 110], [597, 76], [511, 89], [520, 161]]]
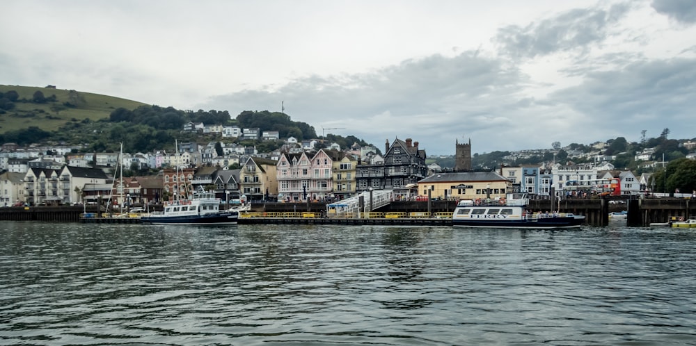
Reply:
[[0, 84], [284, 111], [428, 156], [696, 138], [694, 0], [5, 1]]

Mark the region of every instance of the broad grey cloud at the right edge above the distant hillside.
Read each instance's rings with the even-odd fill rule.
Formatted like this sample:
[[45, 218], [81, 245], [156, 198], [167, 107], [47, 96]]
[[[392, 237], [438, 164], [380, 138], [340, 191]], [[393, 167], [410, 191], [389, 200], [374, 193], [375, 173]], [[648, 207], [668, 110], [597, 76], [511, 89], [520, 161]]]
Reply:
[[[587, 74], [585, 82], [551, 95], [599, 127], [623, 133], [669, 127], [680, 138], [696, 129], [696, 60], [640, 61], [623, 69]], [[654, 129], [658, 135], [659, 130]]]

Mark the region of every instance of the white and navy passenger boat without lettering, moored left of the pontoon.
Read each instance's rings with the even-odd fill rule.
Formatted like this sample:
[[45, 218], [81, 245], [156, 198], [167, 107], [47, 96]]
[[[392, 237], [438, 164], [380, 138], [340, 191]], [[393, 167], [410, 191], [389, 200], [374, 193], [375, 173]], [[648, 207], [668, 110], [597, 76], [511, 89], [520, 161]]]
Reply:
[[239, 212], [220, 210], [213, 192], [193, 192], [191, 199], [164, 202], [164, 211], [141, 217], [143, 224], [237, 224]]

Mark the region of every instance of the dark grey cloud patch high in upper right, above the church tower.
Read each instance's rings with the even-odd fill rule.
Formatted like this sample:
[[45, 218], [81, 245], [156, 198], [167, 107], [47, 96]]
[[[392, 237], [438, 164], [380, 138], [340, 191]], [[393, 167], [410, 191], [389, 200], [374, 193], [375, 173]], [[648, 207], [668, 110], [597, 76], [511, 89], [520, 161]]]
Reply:
[[608, 10], [576, 8], [525, 27], [505, 26], [498, 29], [493, 41], [500, 46], [501, 53], [514, 57], [534, 58], [557, 51], [582, 51], [606, 40], [610, 26], [628, 9], [623, 4]]

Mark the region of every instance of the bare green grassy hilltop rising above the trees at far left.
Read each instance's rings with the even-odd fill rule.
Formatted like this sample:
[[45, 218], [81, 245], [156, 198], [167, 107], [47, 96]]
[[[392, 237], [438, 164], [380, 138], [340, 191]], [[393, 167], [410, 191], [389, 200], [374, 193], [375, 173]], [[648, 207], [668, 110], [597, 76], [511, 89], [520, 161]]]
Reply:
[[[26, 129], [37, 126], [45, 131], [54, 131], [66, 122], [81, 122], [85, 119], [92, 121], [109, 117], [116, 108], [133, 110], [145, 104], [118, 97], [111, 97], [90, 92], [76, 92], [54, 88], [27, 87], [17, 85], [0, 85], [0, 92], [15, 90], [19, 99], [15, 108], [0, 114], [0, 133]], [[46, 98], [55, 95], [56, 101], [35, 103], [33, 94], [40, 91]], [[72, 106], [65, 106], [65, 104]]]

